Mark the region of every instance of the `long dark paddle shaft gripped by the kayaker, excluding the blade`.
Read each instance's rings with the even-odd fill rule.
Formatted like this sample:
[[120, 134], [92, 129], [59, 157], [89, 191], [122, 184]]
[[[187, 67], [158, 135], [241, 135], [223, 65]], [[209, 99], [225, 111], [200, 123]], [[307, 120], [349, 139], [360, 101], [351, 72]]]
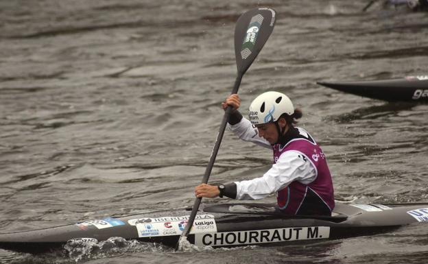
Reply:
[[[235, 85], [233, 86], [232, 93], [230, 93], [230, 94], [238, 93], [238, 89], [239, 89], [239, 85], [241, 84], [242, 76], [243, 76], [243, 73], [238, 73], [237, 78], [235, 80]], [[214, 166], [215, 157], [217, 156], [220, 144], [222, 143], [224, 130], [226, 130], [226, 124], [227, 124], [227, 121], [230, 117], [230, 112], [232, 112], [232, 109], [233, 109], [232, 106], [228, 106], [226, 108], [226, 110], [224, 111], [222, 124], [220, 125], [220, 129], [219, 129], [219, 132], [217, 134], [217, 140], [215, 141], [213, 152], [211, 153], [211, 158], [209, 160], [208, 165], [206, 166], [204, 178], [202, 178], [201, 183], [207, 183], [209, 176], [211, 175], [211, 170], [213, 169], [213, 166]], [[202, 197], [198, 197], [195, 199], [195, 202], [193, 203], [192, 211], [191, 211], [191, 214], [189, 217], [189, 221], [187, 221], [185, 230], [183, 230], [181, 237], [187, 237], [187, 235], [189, 235], [190, 228], [193, 225], [193, 221], [195, 221], [196, 213], [198, 213], [198, 209], [199, 209], [201, 200], [202, 200]]]

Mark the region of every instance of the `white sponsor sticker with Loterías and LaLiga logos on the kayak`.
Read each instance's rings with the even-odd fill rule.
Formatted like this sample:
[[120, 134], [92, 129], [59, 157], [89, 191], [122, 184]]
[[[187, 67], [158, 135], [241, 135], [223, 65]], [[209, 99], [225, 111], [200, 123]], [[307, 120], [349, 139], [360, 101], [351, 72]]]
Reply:
[[[189, 221], [189, 215], [180, 217], [156, 217], [130, 219], [128, 224], [136, 226], [139, 237], [181, 235]], [[190, 234], [217, 232], [213, 215], [196, 215]]]

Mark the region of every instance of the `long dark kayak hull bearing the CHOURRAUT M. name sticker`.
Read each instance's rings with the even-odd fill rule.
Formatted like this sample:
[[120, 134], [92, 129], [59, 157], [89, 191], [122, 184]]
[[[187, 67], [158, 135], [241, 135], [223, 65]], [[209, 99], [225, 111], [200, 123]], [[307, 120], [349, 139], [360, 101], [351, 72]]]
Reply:
[[[0, 248], [40, 254], [62, 250], [64, 245], [123, 237], [174, 247], [189, 211], [156, 211], [117, 219], [25, 232], [0, 234]], [[305, 243], [390, 232], [401, 226], [428, 221], [428, 204], [337, 204], [333, 215], [284, 215], [274, 204], [220, 204], [204, 206], [187, 237], [198, 246], [233, 247]]]

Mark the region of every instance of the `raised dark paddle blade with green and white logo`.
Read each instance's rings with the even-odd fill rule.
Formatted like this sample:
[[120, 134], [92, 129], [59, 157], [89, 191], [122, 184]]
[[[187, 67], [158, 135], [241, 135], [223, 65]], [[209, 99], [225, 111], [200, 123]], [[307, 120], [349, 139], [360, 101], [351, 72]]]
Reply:
[[239, 16], [235, 27], [238, 73], [243, 75], [248, 70], [272, 33], [275, 21], [271, 8], [254, 8]]

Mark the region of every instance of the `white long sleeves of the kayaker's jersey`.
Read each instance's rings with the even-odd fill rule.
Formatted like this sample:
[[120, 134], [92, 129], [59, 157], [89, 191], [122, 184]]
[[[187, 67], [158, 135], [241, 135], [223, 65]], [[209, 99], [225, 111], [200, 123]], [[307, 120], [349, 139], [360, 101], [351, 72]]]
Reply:
[[[254, 128], [251, 122], [244, 117], [235, 125], [230, 125], [228, 123], [228, 128], [243, 141], [250, 141], [257, 145], [272, 149], [272, 145], [259, 136], [257, 128]], [[301, 128], [297, 129], [301, 135], [309, 138], [309, 134], [305, 130]], [[315, 167], [313, 167], [312, 163], [304, 158], [300, 152], [294, 150], [287, 151], [279, 156], [276, 163], [272, 165], [272, 168], [263, 176], [252, 180], [235, 182], [235, 184], [237, 184], [236, 199], [262, 199], [270, 195], [270, 193], [277, 192], [287, 187], [288, 184], [295, 180], [298, 180], [302, 184], [309, 184], [316, 179], [316, 176]]]

